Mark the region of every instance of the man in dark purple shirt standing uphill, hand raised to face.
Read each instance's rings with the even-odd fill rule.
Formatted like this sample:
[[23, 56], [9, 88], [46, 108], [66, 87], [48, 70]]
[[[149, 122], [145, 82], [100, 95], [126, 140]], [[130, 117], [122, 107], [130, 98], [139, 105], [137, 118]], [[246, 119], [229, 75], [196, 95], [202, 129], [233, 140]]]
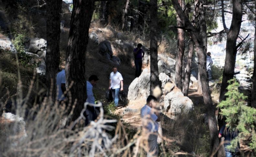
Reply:
[[135, 77], [139, 77], [141, 74], [141, 68], [142, 68], [142, 58], [145, 55], [144, 50], [141, 49], [142, 44], [138, 44], [137, 48], [133, 50], [134, 53], [134, 63], [135, 63]]

